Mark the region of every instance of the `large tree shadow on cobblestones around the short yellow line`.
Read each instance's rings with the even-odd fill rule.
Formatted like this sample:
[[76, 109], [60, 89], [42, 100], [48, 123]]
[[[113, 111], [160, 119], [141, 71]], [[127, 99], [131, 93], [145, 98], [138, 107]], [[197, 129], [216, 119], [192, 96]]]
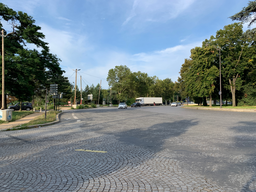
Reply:
[[[98, 111], [94, 112], [98, 113]], [[131, 130], [129, 127], [127, 129], [118, 129], [117, 127], [115, 131], [111, 131], [112, 127], [109, 129], [99, 127], [99, 125], [106, 125], [106, 123], [96, 122], [89, 131], [84, 127], [63, 126], [58, 128], [58, 125], [42, 128], [40, 134], [44, 136], [39, 137], [34, 134], [35, 130], [32, 129], [23, 130], [20, 135], [18, 132], [9, 132], [10, 139], [0, 138], [0, 147], [2, 149], [8, 148], [8, 151], [11, 151], [10, 157], [15, 155], [15, 164], [11, 163], [10, 158], [6, 158], [1, 161], [0, 170], [5, 170], [5, 175], [24, 173], [28, 177], [33, 175], [36, 179], [36, 182], [31, 183], [31, 180], [27, 180], [26, 177], [21, 178], [19, 188], [31, 186], [36, 189], [39, 184], [44, 187], [48, 185], [42, 182], [45, 175], [52, 176], [52, 183], [60, 180], [58, 177], [69, 180], [69, 183], [61, 183], [63, 187], [71, 185], [72, 182], [86, 186], [86, 183], [92, 178], [95, 180], [122, 169], [132, 169], [144, 161], [150, 160], [151, 154], [160, 152], [168, 138], [180, 136], [198, 123], [194, 120], [166, 120], [166, 122], [151, 124], [147, 127], [140, 120], [148, 117], [150, 116], [141, 115], [134, 120], [135, 127]], [[118, 122], [124, 122], [124, 119], [120, 117]], [[109, 123], [112, 125], [115, 122], [111, 119]], [[130, 125], [126, 124], [126, 126]], [[54, 129], [56, 129], [56, 134], [51, 135], [51, 131]], [[97, 134], [92, 136], [92, 132], [97, 132]], [[12, 146], [9, 145], [11, 142], [13, 143]], [[29, 152], [27, 149], [30, 149]], [[77, 149], [106, 151], [107, 153], [89, 153], [76, 151]], [[71, 179], [72, 182], [70, 182]], [[10, 189], [15, 187], [8, 182], [13, 181], [5, 180], [0, 184], [1, 188], [6, 184], [9, 185]], [[76, 186], [73, 190], [75, 191], [79, 187], [81, 186]], [[69, 190], [72, 188], [70, 187]]]

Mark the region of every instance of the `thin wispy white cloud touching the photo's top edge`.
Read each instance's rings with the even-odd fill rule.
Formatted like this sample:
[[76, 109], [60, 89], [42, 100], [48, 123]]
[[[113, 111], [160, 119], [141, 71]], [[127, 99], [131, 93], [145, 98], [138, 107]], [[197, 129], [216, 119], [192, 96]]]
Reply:
[[131, 20], [133, 22], [165, 22], [176, 18], [185, 11], [195, 0], [134, 0], [132, 9], [123, 22], [126, 25]]

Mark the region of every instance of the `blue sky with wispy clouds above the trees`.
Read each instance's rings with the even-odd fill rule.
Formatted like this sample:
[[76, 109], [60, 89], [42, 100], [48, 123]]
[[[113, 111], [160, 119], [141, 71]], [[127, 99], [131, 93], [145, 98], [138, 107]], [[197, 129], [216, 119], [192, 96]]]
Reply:
[[[126, 65], [177, 81], [190, 50], [201, 46], [249, 0], [1, 0], [26, 12], [61, 59], [64, 76], [78, 86], [108, 89], [108, 71]], [[5, 25], [4, 25], [5, 27]], [[6, 26], [8, 28], [8, 26]]]

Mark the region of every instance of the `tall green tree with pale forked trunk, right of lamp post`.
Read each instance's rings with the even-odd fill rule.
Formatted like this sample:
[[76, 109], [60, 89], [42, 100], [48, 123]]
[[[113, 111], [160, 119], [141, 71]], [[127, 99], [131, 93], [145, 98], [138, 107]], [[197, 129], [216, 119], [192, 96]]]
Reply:
[[229, 84], [232, 105], [236, 106], [236, 91], [242, 88], [245, 72], [252, 66], [249, 61], [252, 60], [255, 48], [250, 46], [251, 40], [243, 32], [241, 23], [225, 26], [211, 40], [221, 49], [223, 83], [224, 86]]

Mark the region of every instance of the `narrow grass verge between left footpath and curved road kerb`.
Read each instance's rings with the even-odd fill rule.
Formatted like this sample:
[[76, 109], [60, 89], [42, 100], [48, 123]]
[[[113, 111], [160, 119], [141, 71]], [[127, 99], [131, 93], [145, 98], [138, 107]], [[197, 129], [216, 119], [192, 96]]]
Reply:
[[60, 113], [60, 112], [59, 111], [49, 111], [49, 112], [47, 112], [46, 119], [45, 119], [44, 114], [42, 114], [26, 124], [22, 124], [22, 125], [19, 125], [17, 127], [11, 128], [11, 129], [7, 129], [6, 131], [29, 129], [28, 126], [31, 126], [31, 125], [38, 125], [38, 124], [53, 122], [56, 120], [56, 115], [58, 113]]

